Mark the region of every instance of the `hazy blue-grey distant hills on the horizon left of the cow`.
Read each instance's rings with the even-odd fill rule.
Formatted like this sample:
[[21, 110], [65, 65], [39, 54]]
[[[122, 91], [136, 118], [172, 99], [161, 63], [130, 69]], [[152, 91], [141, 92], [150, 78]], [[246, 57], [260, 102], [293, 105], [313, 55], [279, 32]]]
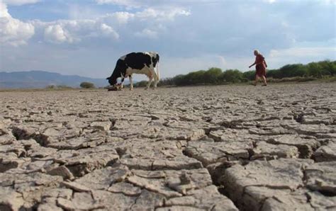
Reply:
[[54, 72], [0, 72], [0, 89], [45, 88], [50, 85], [79, 87], [83, 81], [93, 83], [96, 87], [108, 85], [106, 79], [91, 79], [83, 76], [66, 76]]

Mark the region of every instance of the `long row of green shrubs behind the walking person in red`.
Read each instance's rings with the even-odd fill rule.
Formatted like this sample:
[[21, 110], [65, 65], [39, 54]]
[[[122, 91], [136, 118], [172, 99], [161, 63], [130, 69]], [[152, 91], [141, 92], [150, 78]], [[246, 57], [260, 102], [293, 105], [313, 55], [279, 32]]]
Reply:
[[[309, 64], [286, 64], [280, 69], [269, 69], [267, 78], [274, 82], [285, 81], [313, 81], [315, 78], [323, 79], [325, 76], [336, 75], [336, 61], [311, 62]], [[208, 70], [198, 70], [188, 74], [179, 74], [169, 79], [159, 81], [159, 86], [188, 86], [197, 84], [225, 84], [240, 83], [254, 80], [255, 71], [240, 72], [237, 69], [221, 69], [211, 67]]]

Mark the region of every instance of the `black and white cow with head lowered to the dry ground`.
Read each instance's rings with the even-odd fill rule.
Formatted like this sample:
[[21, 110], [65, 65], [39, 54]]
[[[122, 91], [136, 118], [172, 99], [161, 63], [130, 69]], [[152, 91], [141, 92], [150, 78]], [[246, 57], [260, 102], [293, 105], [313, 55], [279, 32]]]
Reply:
[[[155, 72], [157, 68], [157, 72]], [[149, 81], [146, 89], [150, 88], [154, 79], [154, 89], [159, 81], [159, 54], [157, 52], [131, 52], [128, 55], [120, 57], [117, 61], [116, 68], [108, 78], [111, 86], [116, 86], [117, 79], [121, 77], [121, 88], [125, 78], [130, 78], [130, 90], [133, 89], [132, 74], [145, 74]]]

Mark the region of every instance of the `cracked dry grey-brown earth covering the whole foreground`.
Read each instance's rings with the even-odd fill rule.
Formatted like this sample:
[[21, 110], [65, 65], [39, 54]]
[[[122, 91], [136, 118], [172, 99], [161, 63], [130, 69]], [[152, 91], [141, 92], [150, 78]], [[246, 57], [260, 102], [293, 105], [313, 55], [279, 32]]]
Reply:
[[336, 210], [336, 84], [0, 98], [0, 210]]

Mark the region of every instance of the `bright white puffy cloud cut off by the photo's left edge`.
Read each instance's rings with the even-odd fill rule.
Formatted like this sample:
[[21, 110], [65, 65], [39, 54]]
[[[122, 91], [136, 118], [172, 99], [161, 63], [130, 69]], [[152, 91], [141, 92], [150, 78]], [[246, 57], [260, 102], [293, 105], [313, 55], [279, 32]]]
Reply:
[[6, 4], [0, 2], [0, 44], [25, 45], [34, 35], [35, 28], [31, 23], [25, 23], [13, 18]]

